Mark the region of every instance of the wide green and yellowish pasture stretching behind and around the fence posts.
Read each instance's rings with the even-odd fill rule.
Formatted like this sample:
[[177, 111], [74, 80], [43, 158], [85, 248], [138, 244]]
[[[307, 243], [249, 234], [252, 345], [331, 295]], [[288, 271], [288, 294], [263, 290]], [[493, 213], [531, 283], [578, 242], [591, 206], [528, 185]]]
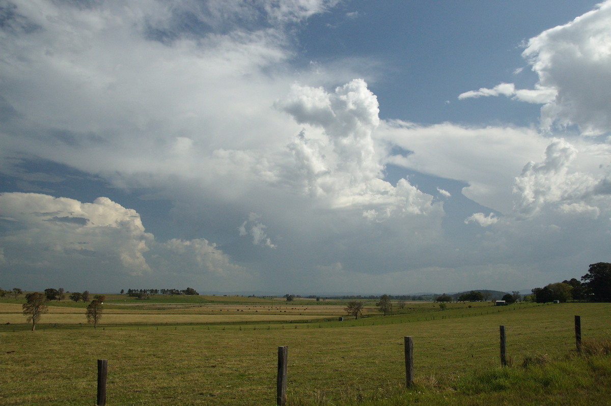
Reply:
[[[95, 404], [96, 360], [104, 358], [108, 405], [273, 405], [277, 347], [284, 345], [293, 405], [610, 402], [610, 357], [577, 357], [573, 326], [579, 314], [584, 339], [609, 338], [610, 303], [452, 303], [444, 311], [409, 303], [387, 317], [369, 303], [369, 317], [340, 322], [340, 304], [223, 298], [114, 309], [109, 300], [96, 330], [85, 324], [84, 308], [56, 306], [34, 333], [15, 313], [20, 305], [3, 300], [0, 404]], [[5, 324], [7, 317], [21, 324]], [[144, 324], [145, 317], [153, 321]], [[499, 325], [507, 331], [509, 368], [499, 366]], [[414, 340], [416, 385], [409, 390], [404, 336]], [[525, 361], [533, 366], [522, 367]]]

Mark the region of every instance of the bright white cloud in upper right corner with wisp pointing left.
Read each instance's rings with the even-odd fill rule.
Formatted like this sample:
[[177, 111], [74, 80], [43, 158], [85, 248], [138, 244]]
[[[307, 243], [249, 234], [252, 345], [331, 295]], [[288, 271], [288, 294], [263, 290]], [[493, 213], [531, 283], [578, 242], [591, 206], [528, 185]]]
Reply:
[[534, 89], [501, 83], [461, 93], [459, 100], [507, 96], [543, 104], [541, 126], [579, 126], [583, 135], [611, 131], [611, 1], [595, 10], [530, 38], [522, 56], [539, 81]]

